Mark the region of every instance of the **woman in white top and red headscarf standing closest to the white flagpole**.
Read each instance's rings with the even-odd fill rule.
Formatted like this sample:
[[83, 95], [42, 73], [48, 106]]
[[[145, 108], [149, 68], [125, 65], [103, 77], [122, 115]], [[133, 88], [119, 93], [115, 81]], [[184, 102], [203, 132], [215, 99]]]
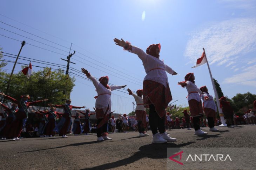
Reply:
[[203, 101], [203, 111], [208, 120], [209, 131], [216, 132], [218, 129], [214, 127], [214, 120], [216, 118], [217, 106], [213, 100], [213, 96], [209, 95], [206, 86], [200, 87], [200, 90], [202, 91], [201, 98]]

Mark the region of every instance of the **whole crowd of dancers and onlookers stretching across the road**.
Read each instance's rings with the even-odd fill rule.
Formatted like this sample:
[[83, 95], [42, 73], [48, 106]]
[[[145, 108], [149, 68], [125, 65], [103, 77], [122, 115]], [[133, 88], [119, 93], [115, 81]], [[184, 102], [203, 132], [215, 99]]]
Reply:
[[[126, 87], [126, 85], [109, 86], [108, 76], [102, 76], [99, 80], [96, 80], [87, 69], [82, 68], [81, 71], [92, 81], [97, 92], [97, 96], [94, 97], [96, 99], [95, 112], [97, 119], [95, 125], [90, 125], [88, 109], [85, 112], [78, 111], [75, 116], [72, 116], [72, 109], [81, 109], [85, 108], [85, 106], [73, 106], [71, 105], [71, 99], [67, 99], [63, 105], [49, 103], [49, 111], [33, 111], [40, 118], [38, 126], [34, 128], [32, 124], [26, 124], [28, 107], [35, 103], [47, 101], [47, 99], [28, 102], [29, 95], [22, 95], [21, 100], [17, 100], [4, 93], [0, 93], [5, 99], [13, 102], [11, 108], [7, 108], [1, 103], [2, 107], [5, 108], [5, 113], [2, 114], [0, 122], [1, 138], [15, 141], [20, 140], [21, 134], [25, 136], [34, 136], [36, 134], [41, 137], [52, 137], [55, 134], [59, 134], [62, 138], [67, 138], [67, 134], [72, 131], [75, 135], [81, 133], [88, 135], [90, 132], [96, 132], [97, 141], [105, 141], [112, 140], [108, 137], [108, 131], [110, 130], [113, 133], [115, 133], [115, 129], [127, 133], [129, 129], [133, 128], [139, 132], [140, 137], [143, 137], [149, 135], [146, 132], [150, 128], [153, 134], [152, 143], [166, 143], [177, 140], [170, 137], [166, 129], [171, 130], [171, 128], [183, 127], [191, 130], [191, 128], [194, 128], [194, 135], [207, 134], [207, 132], [202, 131], [202, 126], [208, 126], [209, 131], [212, 132], [218, 131], [215, 126], [218, 125], [220, 120], [216, 119], [217, 107], [213, 96], [209, 94], [206, 86], [201, 88], [196, 86], [194, 73], [188, 73], [184, 77], [184, 81], [178, 82], [182, 88], [186, 87], [188, 91], [187, 99], [190, 115], [187, 110], [184, 110], [184, 118], [182, 120], [175, 118], [174, 120], [171, 118], [170, 113], [166, 113], [168, 104], [172, 100], [167, 73], [171, 75], [177, 75], [178, 73], [164, 64], [163, 60], [159, 59], [161, 45], [151, 44], [145, 53], [140, 48], [131, 45], [128, 41], [125, 42], [123, 39], [115, 38], [114, 42], [116, 45], [123, 47], [123, 50], [136, 54], [142, 61], [147, 73], [143, 80], [143, 89], [137, 90], [136, 94], [129, 88], [127, 89], [129, 95], [132, 95], [136, 102], [136, 119], [135, 117], [128, 119], [126, 114], [120, 115], [117, 119], [113, 116], [111, 117], [111, 113], [113, 113], [111, 111], [111, 93], [115, 89]], [[220, 116], [224, 116], [228, 128], [234, 128], [237, 122], [239, 122], [239, 118], [234, 116], [230, 103], [224, 96], [219, 100], [223, 111]], [[56, 112], [56, 108], [63, 108], [64, 113]], [[146, 108], [149, 108], [148, 115], [146, 114]], [[256, 101], [254, 102], [254, 109], [256, 109]], [[83, 116], [80, 116], [80, 114], [83, 114]], [[74, 118], [74, 124], [71, 130], [72, 118]], [[81, 118], [85, 119], [83, 124], [81, 124]], [[255, 114], [251, 109], [245, 113], [244, 120], [247, 124], [255, 124]], [[23, 130], [24, 127], [26, 127], [26, 131], [25, 129]]]

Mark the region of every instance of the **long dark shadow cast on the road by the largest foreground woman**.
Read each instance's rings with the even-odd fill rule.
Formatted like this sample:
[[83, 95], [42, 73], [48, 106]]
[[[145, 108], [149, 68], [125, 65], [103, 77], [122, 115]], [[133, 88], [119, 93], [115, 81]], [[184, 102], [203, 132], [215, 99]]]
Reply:
[[[141, 158], [152, 158], [152, 159], [166, 159], [167, 158], [167, 148], [180, 148], [187, 145], [190, 145], [191, 143], [195, 142], [187, 142], [187, 143], [181, 143], [180, 145], [177, 145], [175, 143], [163, 143], [163, 144], [155, 144], [151, 143], [149, 145], [144, 145], [139, 148], [139, 151], [137, 151], [134, 155], [124, 158], [122, 160], [112, 162], [112, 163], [106, 163], [102, 164], [96, 167], [92, 168], [85, 168], [83, 170], [89, 170], [89, 169], [112, 169], [121, 167], [123, 165], [127, 165], [133, 162], [136, 162], [140, 160]], [[178, 150], [173, 150], [173, 153], [176, 153]]]

